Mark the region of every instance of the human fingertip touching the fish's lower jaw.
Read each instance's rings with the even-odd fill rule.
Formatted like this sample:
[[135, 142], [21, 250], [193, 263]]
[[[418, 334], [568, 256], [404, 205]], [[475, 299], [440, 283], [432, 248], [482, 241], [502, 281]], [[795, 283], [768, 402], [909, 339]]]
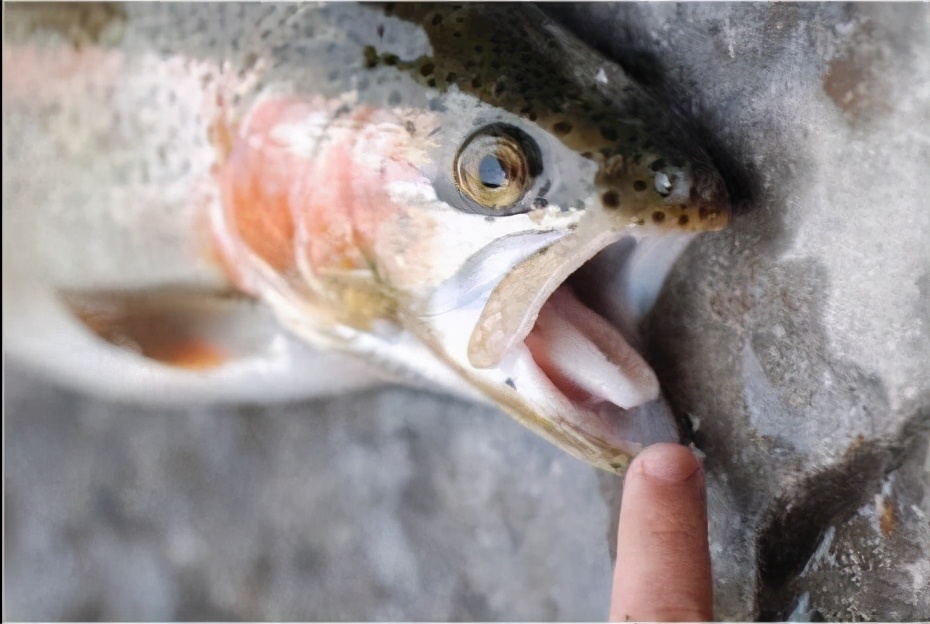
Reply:
[[656, 444], [624, 481], [610, 620], [712, 619], [704, 471], [686, 447]]

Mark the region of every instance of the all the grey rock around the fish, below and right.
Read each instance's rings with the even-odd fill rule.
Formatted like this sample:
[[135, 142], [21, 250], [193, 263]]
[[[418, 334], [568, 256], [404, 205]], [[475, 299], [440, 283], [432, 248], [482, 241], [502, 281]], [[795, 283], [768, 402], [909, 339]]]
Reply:
[[[930, 619], [930, 6], [549, 6], [738, 214], [649, 358], [704, 453], [720, 619]], [[7, 372], [9, 619], [603, 619], [619, 480], [387, 389], [164, 411]]]

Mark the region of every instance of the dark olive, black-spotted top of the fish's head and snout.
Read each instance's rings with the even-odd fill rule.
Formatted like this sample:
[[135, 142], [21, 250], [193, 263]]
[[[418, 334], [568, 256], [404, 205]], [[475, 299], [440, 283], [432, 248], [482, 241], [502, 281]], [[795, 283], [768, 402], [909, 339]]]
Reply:
[[[433, 53], [403, 60], [369, 47], [367, 67], [395, 67], [440, 95], [458, 89], [551, 134], [597, 163], [601, 205], [633, 225], [726, 224], [726, 191], [706, 157], [685, 151], [678, 127], [618, 66], [553, 30], [541, 12], [422, 3], [386, 12], [418, 24]], [[471, 184], [467, 176], [457, 183]]]

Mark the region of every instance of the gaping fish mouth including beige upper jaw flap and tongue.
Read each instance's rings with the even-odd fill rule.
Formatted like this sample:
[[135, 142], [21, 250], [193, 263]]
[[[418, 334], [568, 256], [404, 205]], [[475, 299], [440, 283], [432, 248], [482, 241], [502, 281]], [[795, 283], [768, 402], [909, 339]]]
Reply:
[[[729, 215], [715, 187], [707, 229]], [[639, 324], [697, 232], [622, 227], [597, 207], [587, 216], [515, 262], [476, 306], [460, 371], [539, 435], [621, 471], [644, 446], [679, 438]]]

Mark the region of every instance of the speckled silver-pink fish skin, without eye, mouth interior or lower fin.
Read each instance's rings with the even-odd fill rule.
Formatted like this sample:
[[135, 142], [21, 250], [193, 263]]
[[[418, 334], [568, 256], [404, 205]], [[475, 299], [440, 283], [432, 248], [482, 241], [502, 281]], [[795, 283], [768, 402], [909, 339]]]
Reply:
[[[566, 402], [520, 344], [608, 244], [726, 223], [709, 159], [618, 67], [524, 5], [47, 10], [10, 11], [4, 45], [4, 220], [35, 249], [11, 252], [17, 283], [245, 292], [596, 465], [635, 453], [636, 427]], [[493, 125], [542, 160], [515, 214], [451, 175]]]

